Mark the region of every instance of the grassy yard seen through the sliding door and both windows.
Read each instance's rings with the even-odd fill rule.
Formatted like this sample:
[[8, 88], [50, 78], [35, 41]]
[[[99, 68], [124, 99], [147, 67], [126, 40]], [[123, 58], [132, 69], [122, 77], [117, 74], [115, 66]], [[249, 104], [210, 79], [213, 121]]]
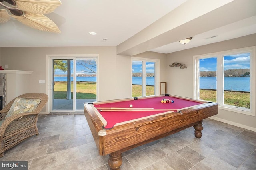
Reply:
[[[54, 99], [66, 99], [67, 83], [55, 82]], [[96, 83], [94, 82], [77, 82], [76, 83], [77, 99], [96, 99]], [[132, 96], [141, 96], [142, 86], [132, 85]], [[146, 95], [154, 95], [154, 86], [146, 87]], [[73, 83], [71, 84], [71, 96], [73, 96]], [[250, 108], [250, 93], [225, 91], [225, 104]], [[200, 99], [216, 102], [216, 91], [200, 90]]]

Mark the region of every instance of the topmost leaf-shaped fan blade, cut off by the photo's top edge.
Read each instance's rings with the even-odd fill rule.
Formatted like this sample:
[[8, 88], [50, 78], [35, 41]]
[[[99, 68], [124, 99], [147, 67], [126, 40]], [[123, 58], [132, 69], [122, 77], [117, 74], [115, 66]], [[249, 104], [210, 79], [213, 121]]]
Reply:
[[34, 14], [51, 13], [61, 5], [60, 0], [15, 0], [18, 8]]

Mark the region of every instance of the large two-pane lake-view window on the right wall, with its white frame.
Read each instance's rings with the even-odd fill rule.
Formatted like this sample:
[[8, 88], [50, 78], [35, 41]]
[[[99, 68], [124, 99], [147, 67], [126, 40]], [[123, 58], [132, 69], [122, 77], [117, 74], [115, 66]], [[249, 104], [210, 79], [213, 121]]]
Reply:
[[255, 115], [255, 47], [194, 56], [196, 99]]

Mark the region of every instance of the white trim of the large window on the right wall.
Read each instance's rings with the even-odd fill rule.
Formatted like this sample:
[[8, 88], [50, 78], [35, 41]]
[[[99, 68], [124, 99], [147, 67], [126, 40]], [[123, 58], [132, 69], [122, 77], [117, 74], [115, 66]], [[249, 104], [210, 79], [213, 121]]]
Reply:
[[[217, 57], [217, 82], [223, 81], [224, 75], [222, 72], [218, 72], [220, 68], [223, 68], [223, 60], [220, 61], [218, 59], [218, 56], [225, 56], [225, 55], [232, 55], [236, 53], [246, 53], [250, 52], [250, 111], [245, 111], [241, 107], [235, 107], [235, 106], [230, 106], [230, 105], [224, 105], [224, 104], [219, 104], [219, 109], [227, 110], [227, 111], [232, 111], [236, 113], [242, 113], [245, 115], [251, 115], [255, 116], [255, 105], [256, 105], [256, 100], [255, 100], [255, 92], [256, 92], [256, 46], [252, 47], [246, 47], [246, 48], [240, 48], [240, 49], [232, 49], [228, 51], [220, 51], [216, 53], [209, 53], [209, 54], [203, 54], [203, 55], [195, 55], [193, 56], [193, 79], [194, 79], [194, 84], [193, 84], [193, 94], [194, 98], [198, 99], [199, 97], [199, 84], [198, 84], [198, 79], [199, 79], [199, 64], [198, 64], [198, 59], [200, 58], [210, 58], [210, 57]], [[224, 95], [223, 92], [223, 87], [220, 87], [220, 83], [217, 83], [217, 101], [220, 101], [220, 96]]]

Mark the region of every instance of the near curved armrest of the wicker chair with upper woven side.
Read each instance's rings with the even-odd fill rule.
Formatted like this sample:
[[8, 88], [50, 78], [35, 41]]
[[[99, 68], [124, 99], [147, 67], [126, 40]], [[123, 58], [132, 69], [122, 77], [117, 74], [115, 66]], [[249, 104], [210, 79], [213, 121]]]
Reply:
[[38, 113], [18, 113], [5, 119], [0, 126], [0, 139], [8, 134], [12, 134], [21, 129], [35, 125], [38, 119]]

